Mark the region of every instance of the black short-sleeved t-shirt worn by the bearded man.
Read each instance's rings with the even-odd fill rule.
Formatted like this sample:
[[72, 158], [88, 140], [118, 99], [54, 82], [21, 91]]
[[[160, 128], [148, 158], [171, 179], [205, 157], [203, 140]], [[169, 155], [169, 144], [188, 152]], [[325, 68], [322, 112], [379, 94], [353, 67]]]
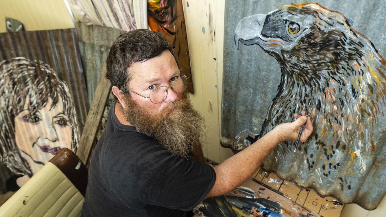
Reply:
[[121, 124], [114, 108], [91, 156], [82, 217], [185, 216], [212, 189], [215, 171]]

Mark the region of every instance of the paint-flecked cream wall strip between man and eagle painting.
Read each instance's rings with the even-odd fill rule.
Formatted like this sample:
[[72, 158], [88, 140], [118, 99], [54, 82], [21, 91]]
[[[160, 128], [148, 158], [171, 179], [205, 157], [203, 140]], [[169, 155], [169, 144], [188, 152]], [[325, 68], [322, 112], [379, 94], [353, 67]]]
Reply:
[[223, 0], [182, 2], [195, 92], [190, 98], [205, 117], [209, 131], [204, 156], [220, 163], [233, 155], [230, 149], [220, 146], [225, 3]]

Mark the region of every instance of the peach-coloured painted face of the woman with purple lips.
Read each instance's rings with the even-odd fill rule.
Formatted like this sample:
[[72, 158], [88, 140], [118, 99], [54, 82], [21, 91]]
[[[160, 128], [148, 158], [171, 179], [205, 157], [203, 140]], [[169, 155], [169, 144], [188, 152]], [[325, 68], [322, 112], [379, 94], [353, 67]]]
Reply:
[[48, 98], [46, 105], [36, 113], [28, 109], [29, 100], [25, 100], [24, 110], [15, 117], [15, 141], [35, 174], [61, 148], [71, 149], [72, 132], [61, 97], [53, 108], [52, 99]]

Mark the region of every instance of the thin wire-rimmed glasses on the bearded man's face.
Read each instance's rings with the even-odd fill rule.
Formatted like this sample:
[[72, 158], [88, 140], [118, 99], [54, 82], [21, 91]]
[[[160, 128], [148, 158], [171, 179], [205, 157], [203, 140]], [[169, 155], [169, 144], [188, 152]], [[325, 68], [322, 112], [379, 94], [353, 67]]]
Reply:
[[141, 93], [134, 92], [128, 88], [123, 90], [123, 92], [126, 92], [126, 93], [133, 92], [137, 95], [140, 95], [141, 97], [149, 98], [152, 103], [157, 104], [157, 103], [163, 102], [166, 99], [166, 97], [168, 97], [169, 88], [171, 88], [176, 93], [182, 93], [184, 90], [186, 90], [186, 87], [188, 86], [188, 78], [189, 77], [182, 75], [181, 77], [174, 80], [170, 86], [168, 87], [159, 86], [156, 89], [152, 90], [149, 93], [149, 96], [147, 97], [142, 95]]

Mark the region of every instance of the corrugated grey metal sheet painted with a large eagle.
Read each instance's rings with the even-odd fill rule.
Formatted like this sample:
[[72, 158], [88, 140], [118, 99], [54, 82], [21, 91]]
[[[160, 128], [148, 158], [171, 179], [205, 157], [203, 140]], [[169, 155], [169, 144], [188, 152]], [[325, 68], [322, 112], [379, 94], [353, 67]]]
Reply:
[[281, 6], [226, 3], [222, 146], [241, 151], [311, 101], [313, 134], [296, 153], [280, 143], [264, 169], [375, 209], [386, 193], [384, 6]]

